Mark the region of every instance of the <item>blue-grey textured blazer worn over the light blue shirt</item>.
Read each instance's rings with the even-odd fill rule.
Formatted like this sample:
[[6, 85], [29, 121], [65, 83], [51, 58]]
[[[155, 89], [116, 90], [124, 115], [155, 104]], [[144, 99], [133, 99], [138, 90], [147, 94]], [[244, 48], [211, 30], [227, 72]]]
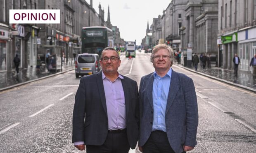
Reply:
[[[152, 132], [154, 74], [143, 76], [140, 81], [140, 137], [143, 146]], [[166, 104], [166, 133], [175, 153], [183, 152], [183, 145], [197, 144], [197, 95], [191, 78], [172, 70], [171, 84]]]

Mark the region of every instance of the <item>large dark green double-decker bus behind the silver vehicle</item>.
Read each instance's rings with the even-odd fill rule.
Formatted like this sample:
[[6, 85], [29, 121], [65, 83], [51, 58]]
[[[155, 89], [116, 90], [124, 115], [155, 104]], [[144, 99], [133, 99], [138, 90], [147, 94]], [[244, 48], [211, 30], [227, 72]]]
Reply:
[[97, 53], [99, 56], [105, 47], [113, 47], [113, 32], [107, 27], [83, 27], [82, 53]]

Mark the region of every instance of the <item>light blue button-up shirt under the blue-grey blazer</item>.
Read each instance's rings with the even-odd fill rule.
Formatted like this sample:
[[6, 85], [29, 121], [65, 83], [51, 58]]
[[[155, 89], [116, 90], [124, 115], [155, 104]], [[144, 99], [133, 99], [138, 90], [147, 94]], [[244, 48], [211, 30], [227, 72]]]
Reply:
[[166, 132], [165, 125], [165, 110], [169, 94], [169, 88], [171, 83], [171, 72], [172, 69], [167, 72], [164, 77], [159, 76], [154, 72], [153, 82], [153, 127], [152, 131], [161, 130]]

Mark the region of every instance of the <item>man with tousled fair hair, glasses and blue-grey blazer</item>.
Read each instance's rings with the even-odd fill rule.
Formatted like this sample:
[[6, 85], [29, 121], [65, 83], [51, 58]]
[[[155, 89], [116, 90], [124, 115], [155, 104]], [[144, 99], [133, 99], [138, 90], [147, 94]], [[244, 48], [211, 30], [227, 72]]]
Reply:
[[143, 153], [182, 153], [196, 144], [197, 96], [191, 78], [172, 70], [173, 50], [156, 45], [151, 62], [155, 72], [140, 81], [140, 137]]

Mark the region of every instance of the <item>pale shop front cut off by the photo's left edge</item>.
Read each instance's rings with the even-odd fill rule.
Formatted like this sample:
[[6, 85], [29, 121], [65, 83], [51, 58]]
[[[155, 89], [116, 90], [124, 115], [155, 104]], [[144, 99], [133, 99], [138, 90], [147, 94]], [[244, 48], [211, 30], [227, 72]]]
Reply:
[[8, 28], [0, 27], [0, 71], [7, 70]]

